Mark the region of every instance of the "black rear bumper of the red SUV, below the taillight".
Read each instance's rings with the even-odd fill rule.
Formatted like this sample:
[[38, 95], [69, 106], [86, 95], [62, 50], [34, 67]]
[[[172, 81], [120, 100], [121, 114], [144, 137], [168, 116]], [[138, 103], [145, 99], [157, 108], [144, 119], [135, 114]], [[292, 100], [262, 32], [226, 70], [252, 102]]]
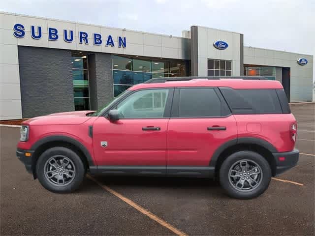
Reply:
[[[274, 155], [276, 161], [275, 175], [279, 175], [296, 166], [299, 161], [300, 151], [298, 149], [294, 149], [289, 152], [274, 152], [272, 154]], [[284, 157], [282, 158], [284, 160], [281, 161], [280, 157]]]

